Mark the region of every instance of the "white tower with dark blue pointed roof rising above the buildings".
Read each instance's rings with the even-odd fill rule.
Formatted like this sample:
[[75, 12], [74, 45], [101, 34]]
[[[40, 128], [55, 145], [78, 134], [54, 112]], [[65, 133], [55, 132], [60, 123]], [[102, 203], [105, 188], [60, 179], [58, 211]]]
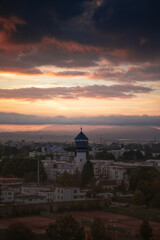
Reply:
[[75, 145], [76, 145], [76, 167], [78, 171], [83, 170], [83, 166], [87, 161], [87, 150], [88, 150], [88, 138], [86, 135], [81, 132], [77, 135], [77, 137], [74, 139]]

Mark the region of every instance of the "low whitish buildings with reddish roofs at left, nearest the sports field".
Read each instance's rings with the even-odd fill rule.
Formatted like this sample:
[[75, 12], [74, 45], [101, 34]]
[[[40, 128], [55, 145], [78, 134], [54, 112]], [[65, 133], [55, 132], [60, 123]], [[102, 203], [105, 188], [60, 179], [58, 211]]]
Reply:
[[19, 178], [0, 178], [0, 203], [33, 204], [85, 200], [77, 187], [26, 185]]

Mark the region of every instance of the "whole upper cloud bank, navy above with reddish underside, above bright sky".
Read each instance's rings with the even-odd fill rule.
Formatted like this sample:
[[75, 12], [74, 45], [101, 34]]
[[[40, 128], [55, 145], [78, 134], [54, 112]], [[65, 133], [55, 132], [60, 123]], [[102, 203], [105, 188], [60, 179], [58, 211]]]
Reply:
[[1, 0], [0, 70], [155, 63], [159, 12], [158, 0]]

